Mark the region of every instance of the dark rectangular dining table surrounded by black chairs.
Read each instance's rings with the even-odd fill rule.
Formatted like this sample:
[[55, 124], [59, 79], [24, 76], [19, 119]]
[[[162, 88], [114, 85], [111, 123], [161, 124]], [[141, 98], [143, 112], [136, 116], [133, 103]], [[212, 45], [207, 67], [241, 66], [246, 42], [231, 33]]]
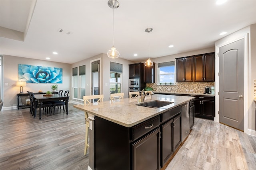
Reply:
[[41, 119], [41, 109], [43, 102], [53, 102], [56, 100], [63, 100], [65, 102], [66, 107], [66, 114], [68, 115], [68, 99], [69, 96], [60, 95], [60, 94], [52, 94], [52, 95], [46, 95], [46, 94], [35, 94], [35, 103], [34, 103], [34, 117], [36, 117], [36, 109], [37, 105], [39, 106], [39, 119]]

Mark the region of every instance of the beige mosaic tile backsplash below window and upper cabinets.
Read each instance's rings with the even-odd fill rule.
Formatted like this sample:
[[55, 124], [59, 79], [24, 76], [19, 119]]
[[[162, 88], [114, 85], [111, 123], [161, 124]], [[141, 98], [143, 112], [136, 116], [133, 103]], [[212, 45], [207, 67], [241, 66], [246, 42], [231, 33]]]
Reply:
[[[254, 81], [254, 89], [255, 89]], [[177, 92], [177, 93], [204, 93], [205, 86], [214, 86], [214, 82], [182, 82], [175, 85], [157, 85], [157, 83], [147, 83], [156, 92]], [[254, 90], [255, 92], [255, 90]]]

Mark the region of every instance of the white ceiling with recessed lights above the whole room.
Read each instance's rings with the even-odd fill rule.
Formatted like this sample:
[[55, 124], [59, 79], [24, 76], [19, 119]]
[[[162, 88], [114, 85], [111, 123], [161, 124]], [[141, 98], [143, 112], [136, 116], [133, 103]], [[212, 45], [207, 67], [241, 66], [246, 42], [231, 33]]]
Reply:
[[[119, 2], [114, 10], [114, 45], [120, 58], [134, 62], [148, 58], [147, 27], [154, 29], [150, 33], [153, 59], [214, 47], [216, 40], [256, 23], [256, 0], [228, 0], [222, 5], [216, 5], [216, 0]], [[113, 45], [113, 10], [108, 0], [0, 0], [0, 26], [24, 33], [24, 41], [1, 35], [1, 55], [75, 63], [106, 53]], [[227, 34], [219, 35], [222, 31]]]

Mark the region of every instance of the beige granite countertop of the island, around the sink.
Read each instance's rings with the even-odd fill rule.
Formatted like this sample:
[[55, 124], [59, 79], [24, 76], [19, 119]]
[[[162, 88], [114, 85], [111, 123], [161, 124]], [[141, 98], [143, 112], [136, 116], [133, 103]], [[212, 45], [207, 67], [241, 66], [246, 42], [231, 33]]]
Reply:
[[[160, 108], [150, 108], [137, 106], [136, 98], [124, 98], [123, 100], [115, 100], [114, 102], [105, 101], [100, 103], [90, 103], [84, 105], [74, 105], [75, 108], [91, 113], [92, 115], [101, 117], [108, 121], [112, 121], [125, 127], [132, 127], [151, 117], [155, 117], [173, 107], [186, 103], [195, 97], [190, 96], [172, 96], [164, 94], [153, 94], [152, 100], [161, 100], [174, 102]], [[149, 102], [150, 97], [146, 96], [144, 102]]]

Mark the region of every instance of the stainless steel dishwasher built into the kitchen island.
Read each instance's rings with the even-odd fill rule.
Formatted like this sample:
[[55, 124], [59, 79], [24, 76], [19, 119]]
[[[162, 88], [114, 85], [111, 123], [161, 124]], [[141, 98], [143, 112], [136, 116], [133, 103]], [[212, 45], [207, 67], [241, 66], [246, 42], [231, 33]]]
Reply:
[[182, 142], [189, 134], [189, 102], [182, 104], [181, 107], [181, 120], [182, 120]]

